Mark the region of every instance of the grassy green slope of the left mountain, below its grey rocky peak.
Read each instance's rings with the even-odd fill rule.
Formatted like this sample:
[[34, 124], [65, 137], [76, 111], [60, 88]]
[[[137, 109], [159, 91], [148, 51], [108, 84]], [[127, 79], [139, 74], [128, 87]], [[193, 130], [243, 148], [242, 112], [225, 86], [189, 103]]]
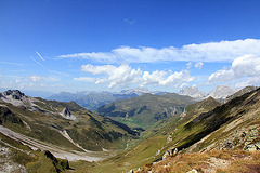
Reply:
[[[38, 111], [5, 104], [13, 115], [23, 120], [26, 125], [22, 127], [16, 123], [4, 123], [4, 125], [30, 137], [76, 150], [80, 149], [62, 136], [58, 131], [66, 130], [74, 142], [88, 150], [123, 148], [126, 139], [134, 135], [129, 128], [94, 115], [75, 102], [65, 103], [37, 98], [34, 103], [37, 105], [34, 107], [38, 107]], [[76, 121], [64, 119], [60, 115], [64, 107], [67, 107], [77, 117]]]

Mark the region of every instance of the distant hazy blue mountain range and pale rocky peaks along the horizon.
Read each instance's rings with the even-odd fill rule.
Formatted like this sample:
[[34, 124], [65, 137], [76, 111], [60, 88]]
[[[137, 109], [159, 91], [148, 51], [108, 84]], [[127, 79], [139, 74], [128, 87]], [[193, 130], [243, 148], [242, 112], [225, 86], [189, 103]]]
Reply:
[[[206, 94], [199, 91], [196, 86], [184, 88], [180, 91], [180, 95], [187, 95], [198, 101], [202, 101], [208, 96], [212, 96], [213, 98], [223, 101], [226, 96], [232, 95], [237, 90], [230, 89], [226, 85], [219, 85], [210, 93]], [[70, 102], [74, 101], [80, 106], [89, 109], [89, 110], [96, 110], [99, 107], [109, 104], [117, 99], [128, 99], [136, 96], [141, 96], [143, 94], [153, 94], [153, 95], [162, 95], [167, 94], [168, 92], [161, 91], [154, 91], [151, 92], [147, 89], [130, 89], [130, 90], [122, 90], [119, 93], [115, 92], [95, 92], [95, 91], [84, 91], [78, 93], [69, 93], [69, 92], [61, 92], [58, 94], [51, 95], [47, 97], [47, 99], [54, 99], [60, 102]]]

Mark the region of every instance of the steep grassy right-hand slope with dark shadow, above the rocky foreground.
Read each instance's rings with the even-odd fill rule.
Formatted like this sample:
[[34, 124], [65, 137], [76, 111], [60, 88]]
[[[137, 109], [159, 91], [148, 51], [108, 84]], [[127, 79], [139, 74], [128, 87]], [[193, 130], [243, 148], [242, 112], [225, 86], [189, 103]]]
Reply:
[[[203, 150], [210, 144], [214, 144], [222, 138], [224, 139], [230, 132], [239, 129], [245, 123], [259, 125], [259, 102], [260, 91], [255, 91], [232, 99], [225, 105], [218, 106], [209, 112], [206, 112], [207, 107], [209, 109], [212, 107], [205, 104], [204, 114], [200, 114], [202, 109], [198, 109], [197, 114], [190, 111], [193, 115], [187, 114], [186, 118], [184, 117], [168, 123], [134, 148], [101, 162], [100, 165], [92, 168], [91, 171], [106, 172], [107, 170], [113, 170], [113, 172], [122, 172], [136, 169], [155, 161], [172, 146], [186, 149], [210, 134], [200, 145], [193, 148], [194, 151]], [[244, 118], [242, 123], [232, 125], [227, 132], [223, 131], [233, 122], [240, 120], [242, 117]], [[171, 135], [172, 139], [167, 143], [169, 135]], [[160, 154], [156, 156], [158, 149], [160, 149]]]

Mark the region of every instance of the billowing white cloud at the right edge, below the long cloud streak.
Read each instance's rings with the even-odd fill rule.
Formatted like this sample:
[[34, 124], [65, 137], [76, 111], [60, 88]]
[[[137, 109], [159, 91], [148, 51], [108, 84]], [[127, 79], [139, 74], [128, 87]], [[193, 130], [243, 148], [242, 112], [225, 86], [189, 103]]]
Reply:
[[259, 80], [256, 80], [259, 79], [259, 77], [260, 57], [249, 54], [234, 59], [230, 69], [224, 68], [211, 74], [208, 78], [208, 82], [218, 83], [247, 78], [247, 80], [238, 83], [237, 85], [248, 85], [250, 83], [256, 84], [256, 82], [259, 84]]

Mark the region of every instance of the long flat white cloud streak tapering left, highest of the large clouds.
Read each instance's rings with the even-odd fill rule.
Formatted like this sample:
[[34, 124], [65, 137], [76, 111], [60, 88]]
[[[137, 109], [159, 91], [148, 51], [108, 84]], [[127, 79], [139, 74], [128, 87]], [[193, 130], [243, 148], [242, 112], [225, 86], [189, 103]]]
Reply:
[[260, 40], [245, 39], [202, 44], [187, 44], [182, 48], [130, 48], [120, 46], [110, 52], [92, 52], [61, 55], [63, 58], [86, 58], [106, 63], [156, 63], [156, 62], [232, 62], [238, 56], [253, 54], [260, 56]]

